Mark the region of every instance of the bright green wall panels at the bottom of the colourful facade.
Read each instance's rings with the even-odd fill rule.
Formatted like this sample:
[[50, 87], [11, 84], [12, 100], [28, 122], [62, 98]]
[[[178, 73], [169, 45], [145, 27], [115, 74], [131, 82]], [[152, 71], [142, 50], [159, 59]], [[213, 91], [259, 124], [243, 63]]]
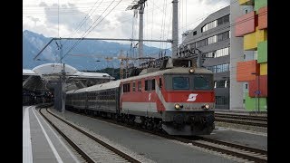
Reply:
[[[246, 95], [246, 110], [248, 111], [255, 111], [257, 110], [257, 99], [256, 98], [250, 98], [248, 96], [248, 93]], [[267, 106], [266, 106], [266, 98], [259, 98], [259, 103], [260, 103], [260, 111], [265, 111]]]

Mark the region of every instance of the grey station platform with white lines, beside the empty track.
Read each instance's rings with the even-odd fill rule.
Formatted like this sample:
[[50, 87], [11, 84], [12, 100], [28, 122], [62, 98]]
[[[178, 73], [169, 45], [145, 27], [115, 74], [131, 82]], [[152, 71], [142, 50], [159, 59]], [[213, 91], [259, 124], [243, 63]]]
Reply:
[[35, 106], [23, 107], [23, 162], [80, 162]]

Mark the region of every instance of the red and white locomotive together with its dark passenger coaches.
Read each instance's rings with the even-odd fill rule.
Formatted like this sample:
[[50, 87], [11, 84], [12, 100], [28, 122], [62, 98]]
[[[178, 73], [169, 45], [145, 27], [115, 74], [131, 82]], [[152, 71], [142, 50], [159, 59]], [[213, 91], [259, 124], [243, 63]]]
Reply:
[[189, 67], [173, 66], [172, 59], [168, 64], [164, 70], [146, 69], [138, 76], [67, 91], [66, 107], [169, 135], [210, 134], [215, 119], [213, 73], [190, 62]]

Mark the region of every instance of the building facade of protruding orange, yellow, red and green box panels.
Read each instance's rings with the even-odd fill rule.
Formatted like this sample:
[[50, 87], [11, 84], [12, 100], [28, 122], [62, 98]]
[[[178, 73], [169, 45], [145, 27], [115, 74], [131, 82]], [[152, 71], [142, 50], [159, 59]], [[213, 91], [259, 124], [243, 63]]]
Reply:
[[[246, 110], [267, 110], [267, 1], [239, 0], [246, 7], [237, 17], [235, 36], [243, 37], [244, 53], [252, 51], [252, 60], [237, 62], [237, 82], [246, 82]], [[245, 54], [244, 54], [245, 55]], [[244, 56], [244, 58], [246, 58]], [[248, 57], [247, 57], [248, 58]]]

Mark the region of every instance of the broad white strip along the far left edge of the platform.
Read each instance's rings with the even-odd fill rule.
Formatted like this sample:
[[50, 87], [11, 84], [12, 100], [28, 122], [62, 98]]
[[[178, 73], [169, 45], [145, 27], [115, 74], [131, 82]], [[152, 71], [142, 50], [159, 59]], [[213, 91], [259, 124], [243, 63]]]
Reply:
[[24, 111], [24, 121], [23, 121], [23, 161], [24, 163], [31, 163], [33, 159], [33, 149], [31, 146], [31, 135], [30, 135], [30, 123], [29, 123], [29, 109], [26, 107]]

